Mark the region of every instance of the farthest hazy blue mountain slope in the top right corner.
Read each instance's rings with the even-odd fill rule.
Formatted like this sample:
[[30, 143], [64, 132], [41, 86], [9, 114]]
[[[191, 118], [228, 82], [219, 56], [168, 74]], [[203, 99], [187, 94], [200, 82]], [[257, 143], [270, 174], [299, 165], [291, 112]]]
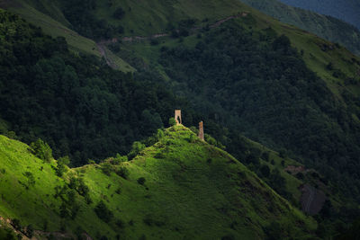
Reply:
[[284, 4], [289, 4], [311, 11], [331, 15], [346, 22], [350, 22], [360, 29], [360, 3], [357, 0], [280, 0]]

